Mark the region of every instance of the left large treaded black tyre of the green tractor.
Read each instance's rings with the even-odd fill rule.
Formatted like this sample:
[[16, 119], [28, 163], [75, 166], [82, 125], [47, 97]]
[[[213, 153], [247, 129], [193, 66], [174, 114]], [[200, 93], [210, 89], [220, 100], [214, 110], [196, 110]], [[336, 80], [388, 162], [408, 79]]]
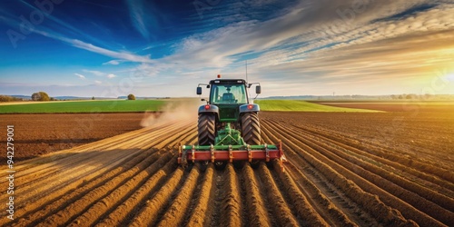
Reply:
[[214, 114], [200, 114], [198, 122], [199, 145], [214, 145], [215, 130], [216, 118]]

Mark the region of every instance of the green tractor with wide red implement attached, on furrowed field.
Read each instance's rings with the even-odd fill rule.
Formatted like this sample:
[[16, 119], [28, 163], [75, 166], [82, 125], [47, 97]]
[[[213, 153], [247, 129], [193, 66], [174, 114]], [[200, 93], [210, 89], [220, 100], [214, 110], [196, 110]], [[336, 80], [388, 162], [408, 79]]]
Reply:
[[[202, 86], [210, 89], [210, 97], [199, 107], [198, 145], [183, 145], [178, 162], [214, 163], [222, 169], [227, 163], [249, 162], [252, 167], [260, 162], [270, 162], [283, 158], [279, 145], [262, 144], [259, 121], [260, 107], [249, 100], [248, 84], [242, 79], [218, 79], [209, 84], [199, 84], [197, 94], [202, 94]], [[261, 85], [255, 93], [261, 94]]]

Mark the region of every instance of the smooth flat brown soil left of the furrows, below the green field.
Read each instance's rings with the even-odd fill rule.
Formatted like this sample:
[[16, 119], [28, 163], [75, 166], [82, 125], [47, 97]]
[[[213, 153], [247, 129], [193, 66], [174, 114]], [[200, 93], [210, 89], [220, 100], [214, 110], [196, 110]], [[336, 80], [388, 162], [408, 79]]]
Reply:
[[[22, 161], [142, 128], [144, 114], [1, 114], [15, 126], [15, 160]], [[5, 150], [6, 130], [0, 133]], [[5, 163], [5, 157], [0, 160]]]

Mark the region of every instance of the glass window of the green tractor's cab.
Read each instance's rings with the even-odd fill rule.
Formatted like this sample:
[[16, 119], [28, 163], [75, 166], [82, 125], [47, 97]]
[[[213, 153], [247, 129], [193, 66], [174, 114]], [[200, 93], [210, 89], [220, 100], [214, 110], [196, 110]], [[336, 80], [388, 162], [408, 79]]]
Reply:
[[244, 84], [212, 84], [212, 104], [247, 104]]

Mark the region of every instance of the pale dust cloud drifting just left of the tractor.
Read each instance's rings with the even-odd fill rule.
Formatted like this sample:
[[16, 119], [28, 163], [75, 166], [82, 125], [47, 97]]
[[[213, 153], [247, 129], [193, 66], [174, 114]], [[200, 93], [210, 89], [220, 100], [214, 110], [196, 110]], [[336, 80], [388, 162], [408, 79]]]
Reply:
[[197, 121], [197, 110], [204, 104], [200, 99], [171, 100], [163, 106], [161, 113], [145, 113], [141, 126], [148, 127], [155, 123], [177, 123], [181, 121]]

